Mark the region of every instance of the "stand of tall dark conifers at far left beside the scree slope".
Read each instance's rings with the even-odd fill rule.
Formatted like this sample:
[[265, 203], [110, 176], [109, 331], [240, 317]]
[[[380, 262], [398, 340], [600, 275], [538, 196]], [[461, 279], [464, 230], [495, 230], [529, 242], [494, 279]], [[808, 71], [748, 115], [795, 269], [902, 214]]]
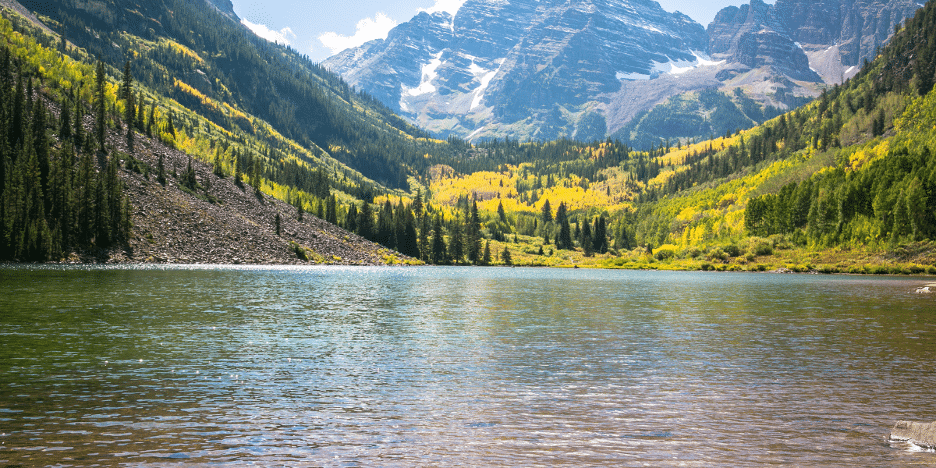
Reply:
[[56, 260], [126, 242], [131, 208], [118, 155], [104, 145], [104, 79], [101, 65], [92, 106], [74, 92], [53, 102], [42, 76], [0, 47], [0, 260]]

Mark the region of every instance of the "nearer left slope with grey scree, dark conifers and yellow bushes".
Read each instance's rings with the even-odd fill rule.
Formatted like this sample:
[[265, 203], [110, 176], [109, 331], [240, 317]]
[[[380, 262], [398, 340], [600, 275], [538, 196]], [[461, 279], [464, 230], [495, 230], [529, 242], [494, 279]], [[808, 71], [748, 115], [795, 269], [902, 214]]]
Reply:
[[[23, 11], [0, 18], [0, 261], [407, 260], [336, 225], [330, 185], [347, 189], [359, 174], [300, 151], [230, 104], [201, 95], [195, 109], [214, 113], [181, 106], [135, 82], [129, 62], [118, 84], [117, 70], [55, 35], [61, 24]], [[145, 52], [158, 53], [156, 44]], [[172, 62], [141, 57], [144, 69]], [[222, 118], [222, 107], [238, 120]], [[197, 159], [210, 154], [212, 163]], [[332, 171], [348, 177], [329, 183]]]

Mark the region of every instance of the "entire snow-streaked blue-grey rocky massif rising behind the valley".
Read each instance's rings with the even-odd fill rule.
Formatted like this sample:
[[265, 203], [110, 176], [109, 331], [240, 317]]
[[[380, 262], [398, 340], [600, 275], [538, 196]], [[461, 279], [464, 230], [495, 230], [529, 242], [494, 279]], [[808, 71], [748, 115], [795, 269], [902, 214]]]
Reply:
[[683, 93], [798, 105], [856, 73], [919, 6], [752, 0], [706, 30], [653, 0], [468, 0], [323, 65], [443, 137], [589, 140]]

